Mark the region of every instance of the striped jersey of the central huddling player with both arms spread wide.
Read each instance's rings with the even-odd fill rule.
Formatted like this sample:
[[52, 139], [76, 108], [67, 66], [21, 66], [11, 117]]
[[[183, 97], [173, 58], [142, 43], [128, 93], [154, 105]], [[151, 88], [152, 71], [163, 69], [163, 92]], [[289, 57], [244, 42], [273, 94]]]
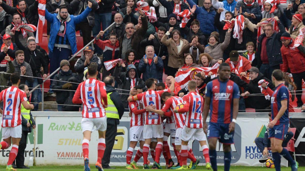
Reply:
[[[146, 92], [142, 92], [136, 96], [133, 96], [133, 100], [140, 100], [143, 104], [143, 107], [145, 106], [151, 106], [156, 105], [156, 110], [161, 109], [161, 95], [163, 92], [170, 92], [170, 90], [147, 90]], [[146, 111], [145, 113], [145, 124], [146, 125], [159, 125], [161, 124], [161, 117], [154, 112]]]

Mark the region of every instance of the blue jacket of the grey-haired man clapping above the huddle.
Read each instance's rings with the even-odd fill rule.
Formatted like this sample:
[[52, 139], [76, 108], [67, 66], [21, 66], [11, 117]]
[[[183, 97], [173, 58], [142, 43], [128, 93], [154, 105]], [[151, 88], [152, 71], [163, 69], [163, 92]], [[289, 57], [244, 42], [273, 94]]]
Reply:
[[[156, 54], [155, 54], [156, 56]], [[143, 57], [145, 58], [145, 57]], [[143, 73], [143, 80], [146, 81], [149, 78], [154, 78], [162, 82], [163, 76], [163, 61], [160, 57], [158, 57], [158, 62], [155, 64], [153, 61], [149, 65], [149, 63], [145, 64], [143, 58], [139, 63], [139, 70]]]

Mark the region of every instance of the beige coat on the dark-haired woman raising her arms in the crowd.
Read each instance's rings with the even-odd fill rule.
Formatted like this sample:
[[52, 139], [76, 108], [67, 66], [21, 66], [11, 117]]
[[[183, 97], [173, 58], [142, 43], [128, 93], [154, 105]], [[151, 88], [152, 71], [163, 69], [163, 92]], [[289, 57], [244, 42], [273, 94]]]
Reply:
[[[164, 36], [161, 39], [161, 43], [163, 43], [165, 46], [167, 46], [168, 51], [168, 65], [172, 68], [179, 68], [181, 65], [184, 64], [184, 53], [182, 51], [183, 47], [187, 46], [188, 41], [185, 39], [182, 40], [182, 47], [181, 51], [178, 53], [177, 45], [173, 38], [168, 38], [168, 35], [164, 34]], [[165, 66], [164, 66], [165, 67]]]

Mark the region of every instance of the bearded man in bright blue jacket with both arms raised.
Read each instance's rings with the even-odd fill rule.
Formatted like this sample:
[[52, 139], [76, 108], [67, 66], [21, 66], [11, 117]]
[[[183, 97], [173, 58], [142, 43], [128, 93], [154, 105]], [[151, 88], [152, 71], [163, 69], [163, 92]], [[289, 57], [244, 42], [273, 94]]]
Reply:
[[81, 23], [91, 11], [92, 3], [78, 16], [70, 15], [66, 6], [59, 8], [58, 14], [51, 14], [45, 10], [45, 19], [51, 23], [50, 39], [48, 44], [50, 58], [50, 73], [60, 65], [60, 61], [68, 60], [77, 52], [75, 26]]

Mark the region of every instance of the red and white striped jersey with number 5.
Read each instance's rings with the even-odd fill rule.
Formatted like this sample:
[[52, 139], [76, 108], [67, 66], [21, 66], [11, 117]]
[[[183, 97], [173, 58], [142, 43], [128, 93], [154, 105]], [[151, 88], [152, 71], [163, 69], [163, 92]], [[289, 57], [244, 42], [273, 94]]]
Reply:
[[104, 82], [90, 78], [80, 83], [74, 94], [73, 103], [78, 99], [84, 104], [83, 117], [99, 118], [106, 116], [103, 104], [107, 105], [108, 103]]

